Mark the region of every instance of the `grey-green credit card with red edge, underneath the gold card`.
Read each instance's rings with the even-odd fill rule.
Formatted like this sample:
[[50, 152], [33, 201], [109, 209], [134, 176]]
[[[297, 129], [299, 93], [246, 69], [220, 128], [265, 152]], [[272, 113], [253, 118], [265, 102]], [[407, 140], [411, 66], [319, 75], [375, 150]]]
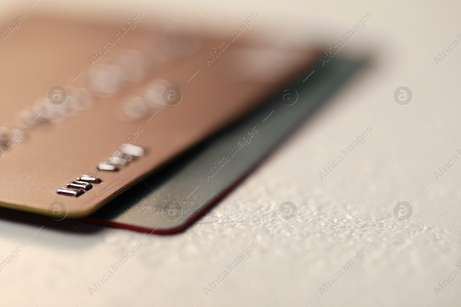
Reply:
[[142, 232], [180, 231], [252, 176], [256, 165], [358, 68], [341, 58], [328, 65], [319, 61], [266, 104], [84, 220]]

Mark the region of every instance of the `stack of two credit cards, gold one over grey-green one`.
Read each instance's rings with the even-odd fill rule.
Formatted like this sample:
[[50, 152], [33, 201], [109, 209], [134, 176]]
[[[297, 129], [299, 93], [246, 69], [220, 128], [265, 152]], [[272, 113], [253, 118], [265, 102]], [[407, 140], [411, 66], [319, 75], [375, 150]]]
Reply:
[[59, 220], [182, 229], [357, 68], [141, 27], [140, 12], [105, 27], [23, 15], [0, 50], [0, 206]]

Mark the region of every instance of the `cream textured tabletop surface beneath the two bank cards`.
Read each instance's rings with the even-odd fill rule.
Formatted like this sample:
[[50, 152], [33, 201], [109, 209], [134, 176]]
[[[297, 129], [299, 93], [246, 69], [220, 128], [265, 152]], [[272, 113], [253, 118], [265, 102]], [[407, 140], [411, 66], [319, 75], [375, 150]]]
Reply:
[[[160, 16], [168, 4], [158, 2], [150, 7]], [[96, 233], [81, 230], [83, 237], [77, 231], [45, 226], [34, 235], [40, 226], [1, 220], [0, 260], [21, 242], [28, 244], [0, 272], [1, 304], [459, 306], [460, 277], [446, 283], [448, 287], [438, 296], [434, 291], [443, 278], [460, 272], [456, 265], [461, 266], [461, 167], [456, 163], [438, 181], [434, 176], [443, 162], [459, 157], [456, 150], [461, 150], [460, 51], [456, 49], [438, 66], [434, 63], [437, 53], [456, 39], [461, 25], [459, 4], [310, 2], [318, 10], [305, 1], [223, 6], [233, 8], [229, 11], [232, 22], [258, 9], [266, 14], [260, 14], [261, 24], [277, 27], [273, 33], [299, 34], [296, 30], [305, 29], [317, 33], [305, 34], [306, 41], [316, 38], [325, 46], [336, 45], [371, 11], [374, 15], [366, 28], [341, 52], [362, 57], [360, 51], [374, 67], [370, 65], [349, 82], [313, 116], [315, 122], [308, 119], [254, 177], [183, 233], [147, 236], [106, 228]], [[218, 22], [224, 18], [225, 8], [197, 3]], [[188, 8], [202, 13], [193, 3], [184, 10]], [[205, 15], [201, 17], [203, 23], [213, 24]], [[400, 86], [413, 91], [408, 105], [393, 99]], [[373, 132], [365, 144], [320, 180], [322, 168], [366, 127]], [[278, 217], [278, 207], [285, 201], [296, 204], [295, 220]], [[393, 214], [400, 201], [414, 209], [407, 221]], [[88, 287], [137, 241], [142, 248], [136, 257], [91, 296]], [[252, 242], [258, 247], [250, 258], [206, 295], [203, 288], [208, 282]], [[322, 296], [319, 287], [367, 242], [373, 247], [366, 257]]]

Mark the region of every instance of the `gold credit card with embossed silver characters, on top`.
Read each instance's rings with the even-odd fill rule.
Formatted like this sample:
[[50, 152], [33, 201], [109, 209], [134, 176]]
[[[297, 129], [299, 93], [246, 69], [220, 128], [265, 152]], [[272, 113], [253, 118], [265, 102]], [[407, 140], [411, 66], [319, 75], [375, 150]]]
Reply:
[[120, 25], [26, 12], [0, 24], [0, 205], [88, 215], [316, 59], [258, 40], [249, 16], [209, 37], [142, 27], [141, 12]]

